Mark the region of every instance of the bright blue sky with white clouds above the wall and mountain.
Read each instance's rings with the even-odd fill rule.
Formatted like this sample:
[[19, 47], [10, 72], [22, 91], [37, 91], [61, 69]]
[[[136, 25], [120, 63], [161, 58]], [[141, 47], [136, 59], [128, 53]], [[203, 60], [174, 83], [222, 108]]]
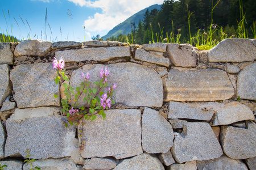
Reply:
[[20, 40], [30, 35], [31, 39], [48, 41], [89, 41], [97, 34], [106, 35], [136, 12], [163, 1], [0, 0], [0, 32], [7, 34], [8, 31]]

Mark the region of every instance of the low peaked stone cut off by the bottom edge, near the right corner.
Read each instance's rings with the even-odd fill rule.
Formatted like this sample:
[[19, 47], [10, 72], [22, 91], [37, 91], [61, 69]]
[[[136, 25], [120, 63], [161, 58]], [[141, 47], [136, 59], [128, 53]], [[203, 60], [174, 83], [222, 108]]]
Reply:
[[222, 155], [220, 158], [212, 160], [197, 160], [197, 169], [198, 170], [207, 170], [207, 169], [244, 169], [247, 170], [246, 165], [242, 160], [231, 159], [226, 155]]

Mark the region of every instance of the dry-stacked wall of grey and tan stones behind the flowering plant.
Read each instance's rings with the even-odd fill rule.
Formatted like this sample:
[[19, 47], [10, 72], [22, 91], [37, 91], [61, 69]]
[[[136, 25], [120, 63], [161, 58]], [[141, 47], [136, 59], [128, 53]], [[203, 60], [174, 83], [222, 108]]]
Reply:
[[[115, 105], [65, 128], [52, 59], [73, 87], [107, 66]], [[0, 158], [6, 169], [256, 169], [256, 40], [189, 44], [0, 43]], [[80, 101], [81, 102], [81, 101]], [[79, 150], [84, 128], [84, 150]]]

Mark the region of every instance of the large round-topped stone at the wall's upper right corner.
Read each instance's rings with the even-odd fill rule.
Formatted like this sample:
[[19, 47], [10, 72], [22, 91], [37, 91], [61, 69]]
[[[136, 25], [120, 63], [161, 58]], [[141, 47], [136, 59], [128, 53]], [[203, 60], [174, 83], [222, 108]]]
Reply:
[[256, 59], [256, 47], [250, 39], [225, 39], [208, 52], [209, 62], [243, 62]]

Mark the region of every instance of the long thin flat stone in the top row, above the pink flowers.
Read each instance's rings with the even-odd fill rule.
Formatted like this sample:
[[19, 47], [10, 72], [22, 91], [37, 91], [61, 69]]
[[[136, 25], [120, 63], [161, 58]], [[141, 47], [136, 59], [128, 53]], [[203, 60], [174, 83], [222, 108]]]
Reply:
[[75, 50], [64, 50], [55, 53], [57, 59], [63, 56], [65, 62], [80, 61], [108, 61], [115, 57], [129, 57], [130, 48], [127, 46], [112, 46], [99, 48], [82, 48]]

